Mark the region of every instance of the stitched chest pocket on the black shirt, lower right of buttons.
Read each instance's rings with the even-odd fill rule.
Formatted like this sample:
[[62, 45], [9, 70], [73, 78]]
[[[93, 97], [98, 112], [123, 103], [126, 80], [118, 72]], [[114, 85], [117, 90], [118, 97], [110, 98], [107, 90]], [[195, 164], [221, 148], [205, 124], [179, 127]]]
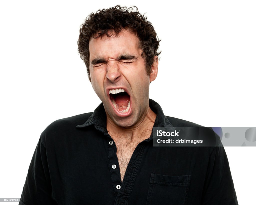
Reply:
[[187, 204], [190, 175], [166, 176], [151, 173], [147, 204]]

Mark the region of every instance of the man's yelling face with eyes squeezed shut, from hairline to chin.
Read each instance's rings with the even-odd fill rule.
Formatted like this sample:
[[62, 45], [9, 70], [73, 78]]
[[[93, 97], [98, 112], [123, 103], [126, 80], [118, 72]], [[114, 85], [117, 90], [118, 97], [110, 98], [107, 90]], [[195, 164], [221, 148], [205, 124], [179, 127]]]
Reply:
[[156, 75], [146, 73], [138, 37], [123, 29], [111, 38], [91, 38], [89, 50], [92, 87], [108, 119], [121, 127], [140, 122], [148, 111], [149, 83]]

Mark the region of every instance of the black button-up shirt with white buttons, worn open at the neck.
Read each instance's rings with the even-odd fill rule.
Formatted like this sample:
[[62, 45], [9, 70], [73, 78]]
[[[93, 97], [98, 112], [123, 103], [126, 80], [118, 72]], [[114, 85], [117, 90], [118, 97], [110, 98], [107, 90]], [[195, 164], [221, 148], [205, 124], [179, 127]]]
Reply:
[[[150, 100], [154, 127], [195, 127]], [[121, 181], [116, 145], [101, 103], [57, 120], [41, 134], [19, 204], [238, 204], [223, 147], [135, 148]]]

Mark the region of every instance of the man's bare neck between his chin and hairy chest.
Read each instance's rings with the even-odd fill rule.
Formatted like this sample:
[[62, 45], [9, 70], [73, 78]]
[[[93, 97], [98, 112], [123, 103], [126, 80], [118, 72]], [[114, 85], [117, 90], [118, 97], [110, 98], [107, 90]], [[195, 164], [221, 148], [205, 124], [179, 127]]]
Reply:
[[[131, 127], [120, 127], [116, 125], [110, 118], [107, 117], [107, 130], [109, 134], [121, 138], [129, 138], [131, 141], [135, 138], [148, 138], [150, 137], [156, 114], [148, 106], [147, 111], [135, 125]], [[143, 139], [144, 140], [144, 139]]]

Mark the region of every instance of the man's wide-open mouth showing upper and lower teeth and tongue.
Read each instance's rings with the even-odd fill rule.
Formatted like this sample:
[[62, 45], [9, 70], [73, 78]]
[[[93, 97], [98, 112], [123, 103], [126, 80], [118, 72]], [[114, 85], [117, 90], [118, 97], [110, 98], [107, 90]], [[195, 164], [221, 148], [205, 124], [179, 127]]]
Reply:
[[122, 88], [109, 90], [109, 96], [115, 109], [120, 113], [127, 113], [130, 110], [130, 95]]

